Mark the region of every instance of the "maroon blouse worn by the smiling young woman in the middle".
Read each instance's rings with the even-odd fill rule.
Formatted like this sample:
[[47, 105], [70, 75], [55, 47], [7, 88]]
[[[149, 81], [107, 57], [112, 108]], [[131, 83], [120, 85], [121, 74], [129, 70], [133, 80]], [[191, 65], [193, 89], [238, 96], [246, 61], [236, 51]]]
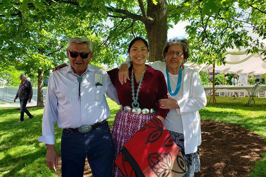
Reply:
[[[169, 112], [169, 109], [161, 109], [157, 104], [158, 100], [165, 98], [167, 99], [167, 85], [164, 79], [164, 75], [161, 71], [155, 70], [152, 67], [147, 66], [147, 70], [144, 74], [142, 85], [140, 87], [138, 103], [141, 109], [156, 109], [157, 115], [162, 116], [164, 119]], [[133, 66], [131, 65], [128, 68], [129, 78], [131, 78]], [[132, 108], [132, 88], [131, 81], [127, 80], [127, 83], [121, 85], [118, 79], [118, 68], [114, 68], [113, 70], [107, 71], [110, 76], [110, 79], [118, 92], [119, 102], [123, 106], [130, 106]], [[136, 82], [134, 75], [134, 90], [135, 96], [137, 93], [139, 83]]]

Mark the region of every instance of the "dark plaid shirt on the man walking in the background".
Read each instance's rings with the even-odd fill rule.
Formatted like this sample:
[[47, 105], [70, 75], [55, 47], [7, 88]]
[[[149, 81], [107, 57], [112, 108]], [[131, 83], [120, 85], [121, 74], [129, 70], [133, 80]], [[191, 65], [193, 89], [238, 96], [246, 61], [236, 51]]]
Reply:
[[32, 99], [32, 85], [31, 82], [26, 80], [24, 84], [22, 82], [19, 84], [18, 92], [16, 93], [15, 99], [19, 98], [20, 100], [31, 100]]

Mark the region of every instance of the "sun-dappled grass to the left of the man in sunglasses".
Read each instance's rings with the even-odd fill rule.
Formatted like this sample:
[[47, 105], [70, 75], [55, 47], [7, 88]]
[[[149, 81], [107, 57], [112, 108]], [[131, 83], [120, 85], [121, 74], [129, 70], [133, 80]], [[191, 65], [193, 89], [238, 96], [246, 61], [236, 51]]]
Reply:
[[[39, 109], [43, 108], [34, 108], [30, 111], [33, 112]], [[49, 170], [44, 172], [46, 169], [45, 146], [38, 142], [38, 137], [42, 135], [41, 119], [43, 114], [40, 111], [38, 114], [35, 112], [33, 119], [25, 119], [22, 123], [18, 123], [19, 118], [15, 118], [16, 110], [14, 108], [0, 109], [0, 111], [2, 111], [1, 115], [2, 113], [5, 114], [4, 118], [1, 119], [2, 122], [0, 122], [0, 152], [2, 153], [0, 173], [5, 173], [2, 177], [28, 176], [29, 171], [25, 171], [25, 169], [30, 170], [30, 173], [34, 174], [33, 176], [49, 173]], [[17, 110], [17, 113], [19, 114], [19, 110]], [[10, 119], [9, 115], [11, 116]], [[61, 129], [56, 125], [55, 138], [58, 152], [60, 152], [61, 134]], [[42, 168], [34, 169], [35, 166], [42, 166]]]

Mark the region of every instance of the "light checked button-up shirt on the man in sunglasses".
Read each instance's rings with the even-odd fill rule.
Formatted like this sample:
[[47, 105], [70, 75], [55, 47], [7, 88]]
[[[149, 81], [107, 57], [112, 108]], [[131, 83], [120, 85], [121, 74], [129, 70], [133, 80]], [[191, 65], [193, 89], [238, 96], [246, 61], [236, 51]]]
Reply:
[[[102, 75], [102, 86], [94, 86], [95, 74]], [[88, 65], [82, 75], [81, 100], [78, 75], [71, 65], [51, 74], [46, 94], [42, 132], [39, 141], [55, 144], [55, 123], [59, 128], [77, 128], [101, 122], [110, 115], [106, 95], [119, 103], [117, 90], [106, 71]]]

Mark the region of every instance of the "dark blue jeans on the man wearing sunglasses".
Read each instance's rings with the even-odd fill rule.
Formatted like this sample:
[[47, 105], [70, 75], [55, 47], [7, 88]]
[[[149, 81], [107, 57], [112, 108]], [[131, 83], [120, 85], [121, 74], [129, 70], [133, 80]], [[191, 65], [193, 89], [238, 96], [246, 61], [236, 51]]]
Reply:
[[88, 133], [64, 129], [61, 155], [62, 177], [83, 177], [86, 157], [93, 177], [112, 177], [114, 143], [108, 123]]

